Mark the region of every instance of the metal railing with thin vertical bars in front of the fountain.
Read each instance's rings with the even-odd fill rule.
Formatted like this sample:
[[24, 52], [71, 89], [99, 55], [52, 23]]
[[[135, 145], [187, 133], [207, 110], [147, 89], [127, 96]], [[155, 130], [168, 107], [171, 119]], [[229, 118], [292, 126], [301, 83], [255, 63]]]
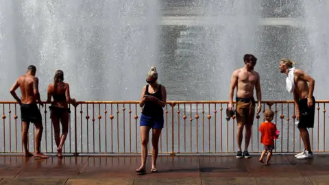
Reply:
[[[63, 153], [140, 153], [138, 101], [80, 101], [70, 106], [70, 127]], [[317, 101], [315, 125], [310, 129], [310, 141], [315, 152], [328, 152], [326, 137], [326, 106], [329, 101]], [[0, 102], [0, 153], [23, 153], [19, 104]], [[42, 152], [56, 153], [49, 105], [42, 112]], [[234, 153], [236, 151], [236, 121], [226, 121], [228, 101], [168, 101], [164, 108], [164, 128], [160, 136], [159, 153]], [[295, 127], [293, 101], [264, 101], [263, 110], [276, 112], [273, 123], [280, 130], [276, 152], [291, 153], [303, 149]], [[249, 151], [263, 150], [258, 127], [263, 114], [255, 116]], [[35, 130], [29, 128], [29, 149], [34, 149]], [[151, 132], [150, 132], [151, 136]], [[243, 141], [244, 143], [244, 141]], [[244, 145], [244, 144], [243, 144]], [[151, 146], [149, 146], [151, 151]]]

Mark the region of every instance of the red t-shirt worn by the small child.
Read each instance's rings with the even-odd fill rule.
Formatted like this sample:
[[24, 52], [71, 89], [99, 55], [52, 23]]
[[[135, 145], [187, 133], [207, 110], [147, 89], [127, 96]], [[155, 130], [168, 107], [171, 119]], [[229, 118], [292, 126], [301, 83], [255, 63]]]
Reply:
[[262, 136], [260, 136], [260, 143], [273, 146], [274, 136], [276, 136], [276, 125], [271, 122], [263, 122], [260, 124], [259, 131], [262, 133]]

